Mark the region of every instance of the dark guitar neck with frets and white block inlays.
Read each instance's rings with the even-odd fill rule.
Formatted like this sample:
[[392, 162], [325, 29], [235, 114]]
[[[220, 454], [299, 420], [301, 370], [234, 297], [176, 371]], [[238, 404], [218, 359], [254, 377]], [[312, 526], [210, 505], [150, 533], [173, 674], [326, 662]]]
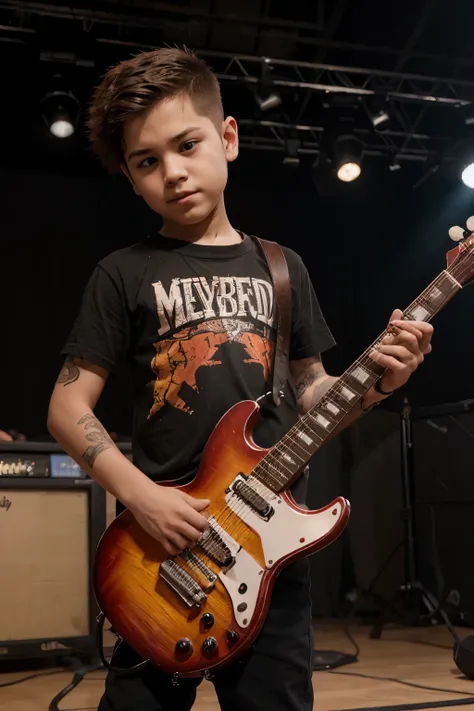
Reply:
[[[461, 288], [451, 270], [446, 269], [405, 309], [402, 318], [431, 321]], [[385, 372], [369, 356], [385, 336], [386, 331], [263, 457], [253, 472], [259, 481], [275, 492], [288, 488], [346, 416], [360, 407], [361, 400]]]

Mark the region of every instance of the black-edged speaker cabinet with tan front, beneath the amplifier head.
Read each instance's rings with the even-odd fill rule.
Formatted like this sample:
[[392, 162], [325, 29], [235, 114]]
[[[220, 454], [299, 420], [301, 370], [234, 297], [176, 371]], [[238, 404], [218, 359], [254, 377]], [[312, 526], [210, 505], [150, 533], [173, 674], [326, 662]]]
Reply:
[[0, 477], [0, 656], [96, 649], [92, 564], [105, 492], [90, 479]]

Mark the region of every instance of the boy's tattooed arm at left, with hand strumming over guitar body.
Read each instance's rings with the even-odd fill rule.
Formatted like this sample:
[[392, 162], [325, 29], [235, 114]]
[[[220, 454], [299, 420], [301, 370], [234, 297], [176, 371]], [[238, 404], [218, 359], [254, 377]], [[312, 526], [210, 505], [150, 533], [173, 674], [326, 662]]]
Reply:
[[193, 545], [207, 527], [199, 512], [209, 504], [179, 489], [155, 484], [109, 437], [94, 415], [108, 372], [79, 358], [59, 374], [48, 412], [48, 430], [89, 476], [121, 501], [170, 555]]

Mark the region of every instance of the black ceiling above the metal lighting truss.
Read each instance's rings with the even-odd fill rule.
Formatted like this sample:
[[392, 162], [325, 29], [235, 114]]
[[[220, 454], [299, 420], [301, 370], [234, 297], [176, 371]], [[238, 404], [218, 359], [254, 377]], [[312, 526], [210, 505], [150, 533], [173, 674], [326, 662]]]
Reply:
[[56, 41], [67, 47], [84, 31], [96, 38], [466, 79], [474, 67], [473, 18], [470, 0], [0, 2], [1, 36], [12, 40], [34, 30], [62, 34]]

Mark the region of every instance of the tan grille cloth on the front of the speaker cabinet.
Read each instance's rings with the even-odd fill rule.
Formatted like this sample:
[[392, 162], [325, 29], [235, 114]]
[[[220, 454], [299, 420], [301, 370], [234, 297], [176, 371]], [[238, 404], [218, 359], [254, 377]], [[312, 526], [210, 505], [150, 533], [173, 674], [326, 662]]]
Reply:
[[0, 640], [89, 634], [85, 491], [2, 489]]

